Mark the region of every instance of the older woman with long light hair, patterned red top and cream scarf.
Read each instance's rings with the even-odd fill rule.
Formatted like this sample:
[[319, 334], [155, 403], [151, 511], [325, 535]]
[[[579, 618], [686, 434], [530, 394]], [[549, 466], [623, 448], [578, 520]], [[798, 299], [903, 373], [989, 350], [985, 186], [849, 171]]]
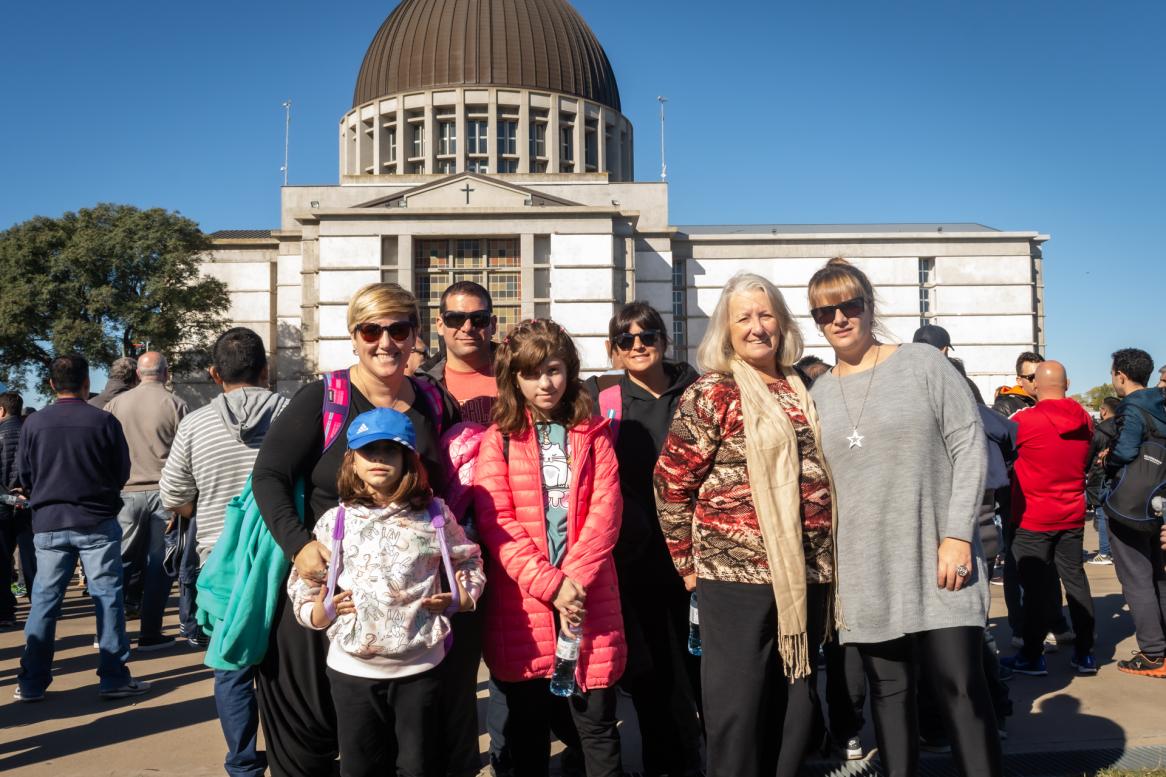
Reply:
[[801, 351], [773, 284], [735, 275], [656, 463], [660, 526], [698, 600], [710, 777], [796, 775], [815, 719], [834, 501]]

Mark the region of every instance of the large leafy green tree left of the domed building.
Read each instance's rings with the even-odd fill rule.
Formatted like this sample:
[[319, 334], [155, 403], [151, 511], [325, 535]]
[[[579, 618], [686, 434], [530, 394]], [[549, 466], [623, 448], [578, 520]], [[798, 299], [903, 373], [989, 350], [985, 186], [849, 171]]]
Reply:
[[108, 203], [0, 232], [0, 378], [47, 386], [58, 354], [108, 366], [147, 346], [175, 372], [199, 366], [230, 304], [199, 273], [209, 249], [184, 216]]

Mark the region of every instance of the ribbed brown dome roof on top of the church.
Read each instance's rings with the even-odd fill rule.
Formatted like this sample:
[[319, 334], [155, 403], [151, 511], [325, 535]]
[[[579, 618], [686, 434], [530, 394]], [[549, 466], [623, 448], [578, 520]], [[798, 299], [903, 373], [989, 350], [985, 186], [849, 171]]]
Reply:
[[365, 54], [352, 106], [487, 85], [562, 92], [620, 110], [607, 55], [566, 0], [401, 0]]

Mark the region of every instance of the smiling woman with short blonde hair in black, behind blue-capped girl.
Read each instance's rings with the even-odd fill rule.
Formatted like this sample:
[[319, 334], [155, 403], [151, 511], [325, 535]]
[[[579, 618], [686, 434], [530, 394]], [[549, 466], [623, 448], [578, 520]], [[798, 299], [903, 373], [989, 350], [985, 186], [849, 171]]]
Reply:
[[[370, 284], [349, 302], [347, 330], [356, 363], [301, 388], [272, 425], [255, 460], [252, 489], [275, 541], [304, 580], [322, 583], [328, 574], [329, 548], [316, 540], [316, 518], [338, 503], [337, 474], [345, 446], [332, 442], [346, 433], [352, 419], [374, 407], [403, 413], [416, 434], [416, 453], [436, 494], [444, 491], [438, 455], [441, 432], [452, 425], [456, 411], [443, 407], [440, 394], [406, 376], [406, 364], [417, 340], [416, 298], [396, 284]], [[303, 483], [303, 516], [296, 506]], [[324, 673], [329, 642], [322, 631], [296, 624], [281, 597], [272, 624], [269, 646], [259, 667], [260, 720], [267, 757], [275, 777], [316, 777], [335, 770], [336, 709]], [[457, 643], [458, 617], [454, 618]], [[452, 653], [443, 665], [451, 662]], [[477, 719], [472, 695], [463, 708], [444, 709], [444, 752], [454, 758], [466, 748], [477, 761]], [[476, 763], [473, 764], [477, 765]], [[450, 765], [444, 774], [476, 774]]]

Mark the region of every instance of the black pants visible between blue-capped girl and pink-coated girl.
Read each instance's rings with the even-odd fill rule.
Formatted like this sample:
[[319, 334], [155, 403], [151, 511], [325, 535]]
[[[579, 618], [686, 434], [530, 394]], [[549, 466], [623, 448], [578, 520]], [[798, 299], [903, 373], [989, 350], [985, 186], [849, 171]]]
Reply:
[[450, 623], [454, 645], [438, 666], [441, 676], [442, 748], [438, 772], [475, 777], [478, 755], [478, 665], [482, 663], [482, 614], [461, 612]]

